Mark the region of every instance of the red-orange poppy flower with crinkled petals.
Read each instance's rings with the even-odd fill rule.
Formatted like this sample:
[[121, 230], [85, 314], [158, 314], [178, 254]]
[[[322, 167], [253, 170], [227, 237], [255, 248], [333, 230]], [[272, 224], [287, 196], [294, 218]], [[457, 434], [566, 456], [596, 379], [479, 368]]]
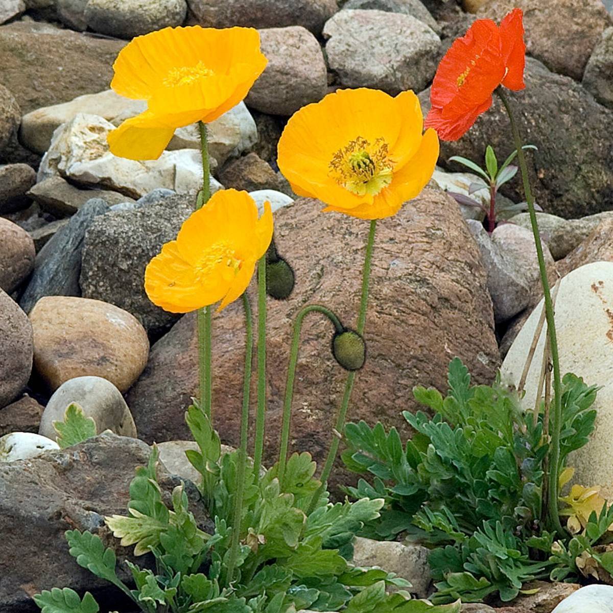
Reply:
[[441, 59], [430, 91], [425, 125], [442, 140], [458, 140], [492, 105], [499, 85], [524, 89], [526, 45], [522, 10], [513, 9], [498, 27], [490, 19], [473, 23]]

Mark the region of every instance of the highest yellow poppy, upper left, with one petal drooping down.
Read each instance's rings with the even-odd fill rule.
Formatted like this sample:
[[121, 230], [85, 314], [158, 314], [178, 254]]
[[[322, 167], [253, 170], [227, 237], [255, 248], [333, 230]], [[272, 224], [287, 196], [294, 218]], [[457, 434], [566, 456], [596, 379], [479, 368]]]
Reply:
[[242, 101], [266, 64], [253, 28], [189, 26], [137, 36], [117, 56], [111, 88], [148, 108], [110, 132], [111, 153], [159, 158], [175, 129], [209, 123]]

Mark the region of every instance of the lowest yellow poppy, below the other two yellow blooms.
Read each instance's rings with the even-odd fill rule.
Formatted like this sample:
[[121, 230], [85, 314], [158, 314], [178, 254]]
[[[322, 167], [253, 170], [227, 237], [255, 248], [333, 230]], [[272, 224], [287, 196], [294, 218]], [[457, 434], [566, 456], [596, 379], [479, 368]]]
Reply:
[[186, 219], [177, 240], [162, 246], [147, 265], [149, 299], [171, 313], [188, 313], [221, 300], [221, 311], [247, 289], [272, 230], [270, 203], [265, 202], [258, 218], [247, 192], [215, 192]]

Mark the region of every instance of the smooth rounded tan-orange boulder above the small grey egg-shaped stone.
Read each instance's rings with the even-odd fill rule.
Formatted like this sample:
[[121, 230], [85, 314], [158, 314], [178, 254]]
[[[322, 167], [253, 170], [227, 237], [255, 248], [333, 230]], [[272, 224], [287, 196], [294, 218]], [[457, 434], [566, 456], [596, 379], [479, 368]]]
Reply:
[[36, 303], [29, 318], [34, 368], [51, 391], [75, 377], [98, 376], [126, 392], [147, 364], [147, 332], [114, 305], [47, 296]]

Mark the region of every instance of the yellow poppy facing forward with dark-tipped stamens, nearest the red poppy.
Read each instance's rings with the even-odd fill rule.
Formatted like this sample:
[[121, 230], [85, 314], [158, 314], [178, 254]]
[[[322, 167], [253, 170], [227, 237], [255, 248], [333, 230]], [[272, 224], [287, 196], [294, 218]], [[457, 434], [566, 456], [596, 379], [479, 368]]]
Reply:
[[362, 219], [395, 215], [421, 192], [438, 159], [438, 136], [424, 134], [419, 99], [377, 89], [341, 89], [287, 122], [281, 172], [299, 196]]

